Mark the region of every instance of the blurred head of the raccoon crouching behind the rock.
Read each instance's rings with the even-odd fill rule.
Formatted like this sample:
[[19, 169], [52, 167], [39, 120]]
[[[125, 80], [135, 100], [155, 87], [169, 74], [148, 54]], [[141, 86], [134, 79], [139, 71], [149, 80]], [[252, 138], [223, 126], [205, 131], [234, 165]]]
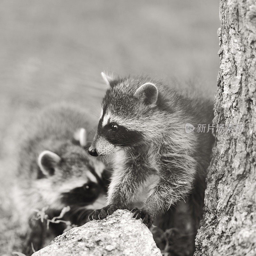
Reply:
[[38, 157], [38, 165], [45, 178], [37, 180], [37, 187], [47, 205], [62, 209], [66, 205], [86, 206], [106, 193], [102, 182], [104, 164], [96, 163], [84, 149], [70, 145], [61, 156], [45, 150]]

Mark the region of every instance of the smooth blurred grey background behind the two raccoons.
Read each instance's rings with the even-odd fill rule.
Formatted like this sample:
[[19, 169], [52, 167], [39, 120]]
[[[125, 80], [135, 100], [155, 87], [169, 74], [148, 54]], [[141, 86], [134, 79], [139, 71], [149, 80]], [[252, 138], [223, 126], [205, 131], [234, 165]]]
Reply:
[[0, 2], [0, 255], [19, 250], [12, 205], [19, 131], [59, 101], [99, 115], [100, 72], [193, 83], [214, 99], [216, 0]]

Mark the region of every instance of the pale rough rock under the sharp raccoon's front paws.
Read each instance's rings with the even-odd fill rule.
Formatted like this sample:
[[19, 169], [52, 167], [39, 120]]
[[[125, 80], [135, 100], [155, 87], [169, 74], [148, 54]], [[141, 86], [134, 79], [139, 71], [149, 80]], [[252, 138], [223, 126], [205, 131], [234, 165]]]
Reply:
[[117, 210], [104, 220], [72, 228], [33, 254], [46, 255], [162, 256], [149, 229], [127, 210]]

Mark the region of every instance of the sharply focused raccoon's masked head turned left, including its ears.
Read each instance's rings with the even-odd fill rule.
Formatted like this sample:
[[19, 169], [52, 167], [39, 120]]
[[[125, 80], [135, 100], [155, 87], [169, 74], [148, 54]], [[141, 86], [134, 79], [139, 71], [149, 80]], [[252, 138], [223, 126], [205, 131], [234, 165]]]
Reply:
[[[115, 86], [107, 90], [103, 99], [98, 130], [88, 150], [92, 156], [107, 156], [119, 149], [139, 147], [152, 126], [150, 119], [158, 97], [156, 85], [140, 85], [140, 81], [130, 79], [113, 81]], [[111, 83], [109, 80], [110, 86]]]

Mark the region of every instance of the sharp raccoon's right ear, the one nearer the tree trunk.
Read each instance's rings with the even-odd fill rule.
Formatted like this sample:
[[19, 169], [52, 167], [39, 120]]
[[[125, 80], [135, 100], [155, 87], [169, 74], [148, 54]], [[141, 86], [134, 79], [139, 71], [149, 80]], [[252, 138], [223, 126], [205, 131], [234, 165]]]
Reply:
[[156, 103], [158, 97], [156, 85], [149, 82], [142, 84], [134, 93], [134, 97], [146, 104]]

